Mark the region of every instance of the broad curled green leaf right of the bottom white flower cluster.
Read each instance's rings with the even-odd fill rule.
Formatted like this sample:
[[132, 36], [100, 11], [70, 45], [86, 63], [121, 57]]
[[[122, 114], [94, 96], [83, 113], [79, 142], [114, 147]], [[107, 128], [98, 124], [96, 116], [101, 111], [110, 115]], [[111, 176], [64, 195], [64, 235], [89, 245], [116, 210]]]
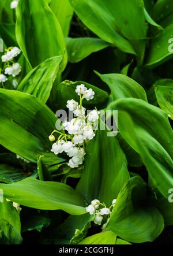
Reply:
[[133, 243], [152, 242], [163, 231], [163, 217], [148, 202], [146, 184], [141, 177], [132, 177], [123, 186], [107, 228]]

